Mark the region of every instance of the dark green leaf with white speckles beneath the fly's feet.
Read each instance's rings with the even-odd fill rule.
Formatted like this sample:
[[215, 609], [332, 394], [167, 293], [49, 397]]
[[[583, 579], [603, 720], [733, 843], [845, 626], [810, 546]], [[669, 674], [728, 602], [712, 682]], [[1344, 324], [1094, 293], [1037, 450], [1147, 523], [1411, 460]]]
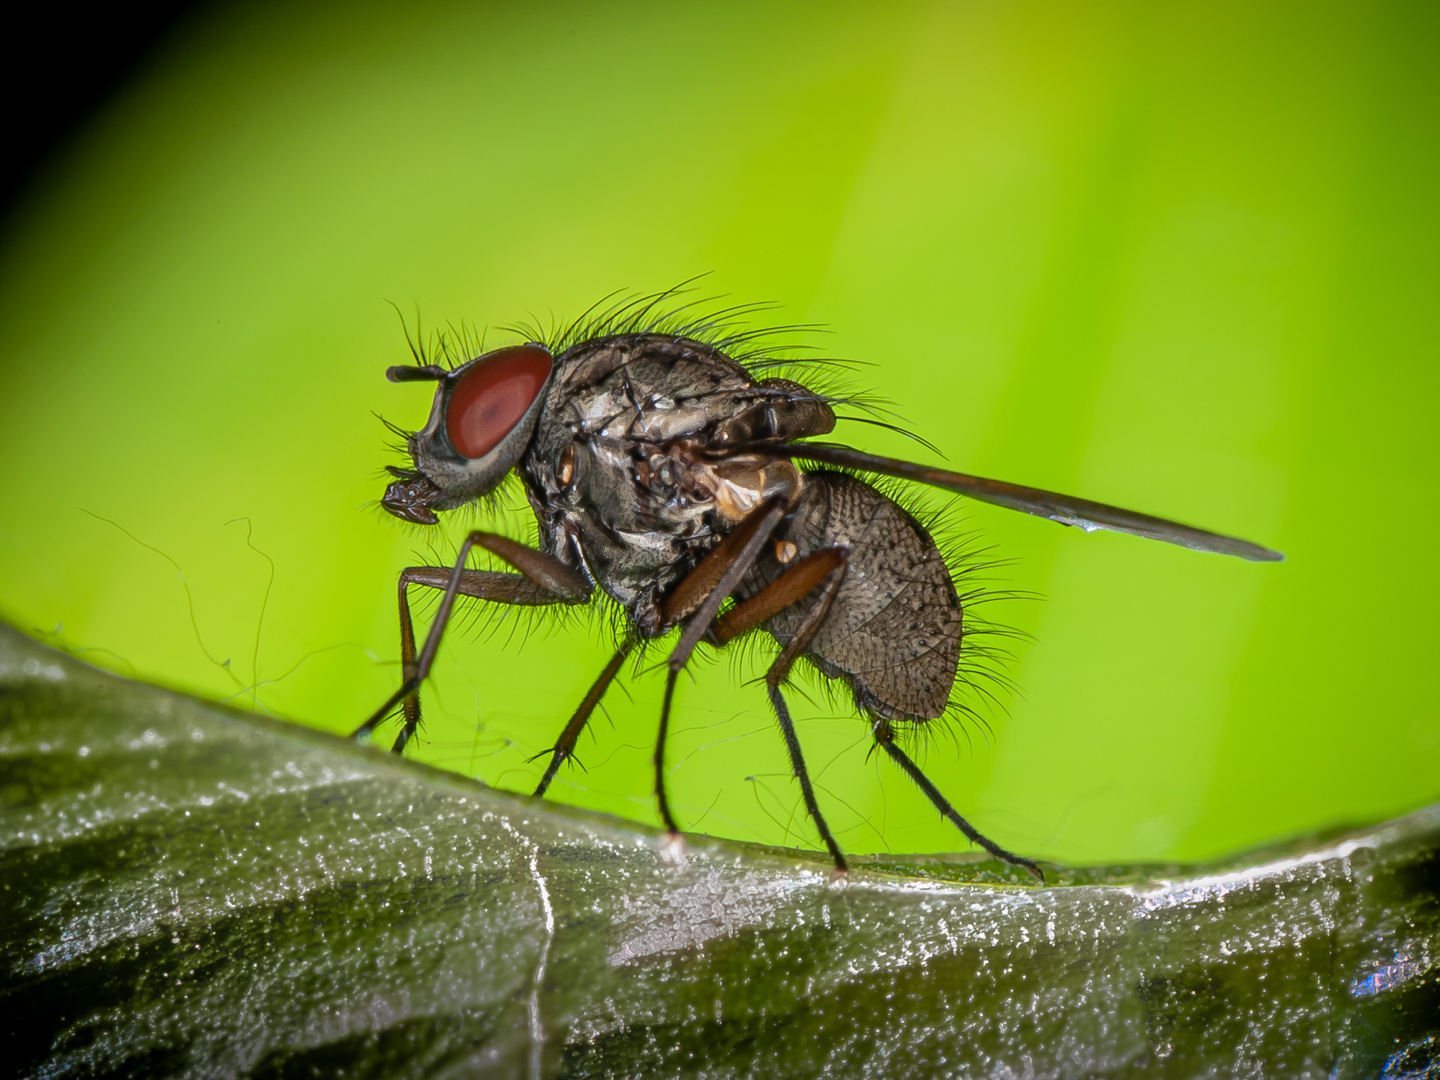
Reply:
[[1440, 808], [1214, 867], [658, 834], [0, 628], [17, 1076], [1436, 1076]]

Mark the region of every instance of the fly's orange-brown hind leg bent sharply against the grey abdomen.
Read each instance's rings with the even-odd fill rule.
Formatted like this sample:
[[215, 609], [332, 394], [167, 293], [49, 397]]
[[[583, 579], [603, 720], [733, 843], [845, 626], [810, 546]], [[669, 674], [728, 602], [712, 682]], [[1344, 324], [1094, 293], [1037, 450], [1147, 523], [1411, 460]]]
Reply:
[[770, 694], [775, 717], [780, 723], [780, 734], [785, 736], [785, 749], [791, 755], [791, 772], [799, 780], [805, 809], [809, 811], [811, 821], [815, 822], [821, 840], [825, 841], [831, 858], [835, 860], [835, 870], [840, 873], [845, 873], [845, 855], [841, 854], [840, 844], [831, 835], [829, 825], [825, 824], [825, 816], [819, 812], [819, 804], [815, 802], [815, 789], [811, 785], [809, 772], [805, 769], [801, 740], [795, 733], [795, 723], [791, 720], [791, 710], [785, 703], [785, 696], [780, 693], [780, 685], [785, 683], [786, 675], [789, 675], [796, 658], [811, 644], [821, 624], [825, 622], [825, 616], [829, 615], [835, 593], [840, 592], [840, 583], [845, 579], [847, 563], [848, 554], [841, 547], [825, 547], [814, 552], [789, 567], [755, 596], [743, 603], [737, 603], [711, 628], [713, 639], [717, 645], [723, 645], [805, 599], [816, 588], [819, 589], [819, 595], [809, 611], [805, 612], [801, 625], [785, 648], [780, 649], [780, 655], [770, 664], [770, 670], [765, 672], [765, 688]]

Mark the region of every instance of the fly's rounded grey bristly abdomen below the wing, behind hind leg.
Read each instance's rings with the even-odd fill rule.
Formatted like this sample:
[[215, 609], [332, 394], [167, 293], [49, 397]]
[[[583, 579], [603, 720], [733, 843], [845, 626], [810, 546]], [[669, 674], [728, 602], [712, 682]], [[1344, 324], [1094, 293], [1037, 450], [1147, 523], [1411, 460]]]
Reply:
[[[890, 720], [933, 720], [950, 700], [959, 665], [962, 611], [949, 567], [910, 514], [861, 480], [809, 472], [782, 539], [796, 557], [848, 550], [848, 566], [825, 622], [805, 655], [850, 684], [855, 704]], [[779, 572], [768, 567], [765, 576]], [[785, 642], [814, 596], [766, 624]]]

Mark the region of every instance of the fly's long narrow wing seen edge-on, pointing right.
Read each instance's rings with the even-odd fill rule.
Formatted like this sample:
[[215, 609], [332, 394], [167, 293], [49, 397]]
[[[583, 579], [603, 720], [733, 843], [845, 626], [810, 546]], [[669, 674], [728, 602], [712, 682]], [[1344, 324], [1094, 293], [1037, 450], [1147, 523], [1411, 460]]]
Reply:
[[985, 480], [984, 477], [972, 477], [965, 472], [948, 472], [946, 469], [916, 465], [909, 461], [899, 461], [897, 458], [881, 458], [876, 454], [851, 449], [850, 446], [837, 446], [827, 442], [796, 442], [773, 448], [772, 452], [805, 461], [816, 461], [824, 465], [838, 465], [840, 468], [880, 472], [886, 477], [900, 477], [901, 480], [933, 484], [937, 488], [958, 491], [962, 495], [969, 495], [984, 503], [994, 503], [1008, 510], [1018, 510], [1022, 514], [1045, 517], [1063, 526], [1076, 526], [1087, 533], [1106, 528], [1112, 533], [1129, 533], [1130, 536], [1143, 536], [1149, 540], [1164, 540], [1168, 544], [1179, 544], [1195, 552], [1233, 554], [1257, 563], [1279, 563], [1284, 560], [1283, 554], [1269, 547], [1261, 547], [1238, 537], [1211, 533], [1205, 528], [1182, 526], [1179, 521], [1168, 521], [1164, 517], [1152, 517], [1151, 514], [1122, 510], [1104, 503], [1092, 503], [1089, 498], [1043, 491], [1041, 488], [1027, 488], [1022, 484], [1007, 484], [1002, 480]]

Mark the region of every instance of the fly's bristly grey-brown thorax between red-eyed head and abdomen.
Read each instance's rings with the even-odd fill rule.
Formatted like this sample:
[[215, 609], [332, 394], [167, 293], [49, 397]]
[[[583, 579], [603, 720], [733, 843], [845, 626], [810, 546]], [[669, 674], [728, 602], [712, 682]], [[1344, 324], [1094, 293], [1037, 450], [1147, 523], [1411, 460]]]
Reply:
[[520, 471], [544, 546], [573, 543], [649, 634], [660, 600], [721, 536], [768, 497], [798, 497], [799, 471], [744, 444], [832, 425], [818, 395], [756, 379], [711, 346], [621, 334], [557, 357]]

